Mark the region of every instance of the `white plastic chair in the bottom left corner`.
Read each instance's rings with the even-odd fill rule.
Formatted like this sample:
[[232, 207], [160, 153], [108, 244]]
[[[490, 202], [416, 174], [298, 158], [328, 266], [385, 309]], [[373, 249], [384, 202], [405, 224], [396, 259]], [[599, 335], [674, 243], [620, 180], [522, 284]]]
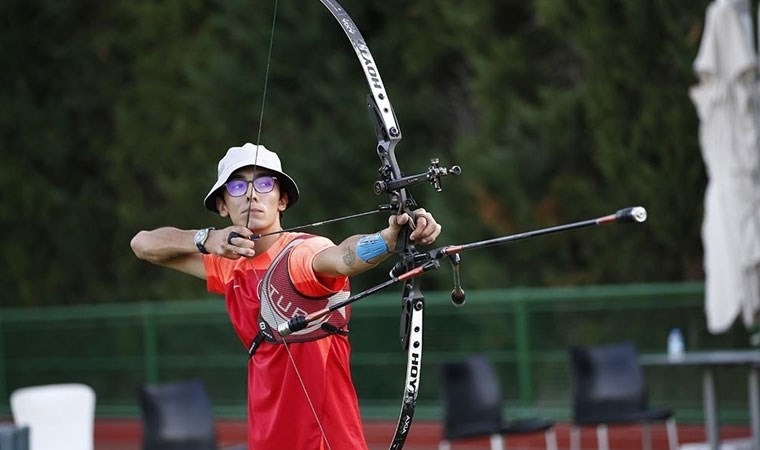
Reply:
[[30, 450], [92, 450], [95, 391], [85, 384], [30, 386], [11, 393], [11, 413], [29, 427]]

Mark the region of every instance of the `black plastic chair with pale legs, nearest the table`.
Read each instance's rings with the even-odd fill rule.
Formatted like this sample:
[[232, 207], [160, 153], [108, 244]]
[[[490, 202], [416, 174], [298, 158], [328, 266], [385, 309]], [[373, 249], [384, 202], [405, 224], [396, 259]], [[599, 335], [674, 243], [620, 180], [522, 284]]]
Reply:
[[678, 449], [672, 409], [647, 404], [644, 373], [633, 343], [616, 342], [570, 349], [573, 423], [570, 449], [580, 449], [581, 428], [596, 426], [600, 450], [609, 450], [607, 425], [641, 424], [645, 450], [651, 450], [649, 424], [665, 422], [670, 450]]

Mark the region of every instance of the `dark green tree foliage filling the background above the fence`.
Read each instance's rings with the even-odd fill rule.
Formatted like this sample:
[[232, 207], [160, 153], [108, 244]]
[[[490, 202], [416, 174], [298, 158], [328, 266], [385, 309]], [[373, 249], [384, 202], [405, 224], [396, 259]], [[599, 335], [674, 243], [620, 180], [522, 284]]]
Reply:
[[[470, 289], [701, 276], [705, 180], [686, 93], [707, 2], [343, 3], [396, 108], [402, 168], [463, 167], [442, 193], [413, 188], [442, 243], [650, 212], [644, 227], [467, 253]], [[223, 226], [201, 200], [232, 145], [280, 152], [303, 191], [286, 225], [385, 201], [343, 31], [317, 1], [280, 0], [274, 34], [273, 13], [242, 0], [0, 5], [3, 304], [204, 295], [128, 244], [166, 224]], [[385, 220], [321, 232], [338, 240]], [[447, 272], [426, 285], [445, 288]]]

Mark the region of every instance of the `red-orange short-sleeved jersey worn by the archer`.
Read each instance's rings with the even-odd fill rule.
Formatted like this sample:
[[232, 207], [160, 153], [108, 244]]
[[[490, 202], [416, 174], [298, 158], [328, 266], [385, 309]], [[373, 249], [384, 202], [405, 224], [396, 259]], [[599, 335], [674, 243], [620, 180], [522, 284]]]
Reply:
[[[252, 259], [233, 261], [203, 256], [208, 290], [225, 296], [227, 313], [244, 347], [241, 358], [247, 357], [248, 346], [258, 333], [259, 282], [272, 260], [296, 235], [283, 233], [266, 253]], [[325, 285], [311, 269], [314, 256], [332, 245], [327, 238], [314, 237], [293, 249], [288, 269], [294, 286], [304, 296], [324, 297], [347, 289], [347, 278], [338, 277]], [[290, 361], [288, 348], [305, 388]], [[330, 335], [291, 343], [288, 348], [263, 342], [248, 361], [249, 449], [367, 449], [351, 380], [348, 338]]]

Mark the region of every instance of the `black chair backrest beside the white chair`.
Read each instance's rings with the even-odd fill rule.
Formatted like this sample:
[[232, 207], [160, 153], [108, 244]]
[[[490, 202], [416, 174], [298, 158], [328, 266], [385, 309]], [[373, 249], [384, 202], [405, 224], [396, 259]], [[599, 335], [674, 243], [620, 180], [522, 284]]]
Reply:
[[201, 380], [138, 388], [144, 450], [215, 450], [216, 430]]

